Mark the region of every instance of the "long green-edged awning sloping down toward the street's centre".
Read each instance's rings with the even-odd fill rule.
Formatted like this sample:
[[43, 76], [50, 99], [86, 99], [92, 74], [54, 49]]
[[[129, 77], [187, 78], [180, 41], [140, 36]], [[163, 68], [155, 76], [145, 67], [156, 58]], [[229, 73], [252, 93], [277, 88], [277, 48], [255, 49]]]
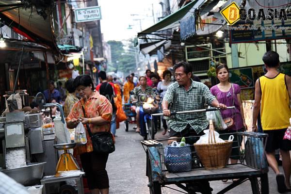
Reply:
[[167, 29], [172, 29], [179, 26], [179, 21], [187, 14], [193, 14], [195, 9], [198, 8], [205, 0], [193, 0], [184, 7], [180, 8], [177, 12], [163, 18], [161, 21], [155, 25], [149, 27], [148, 29], [139, 32], [138, 37], [151, 34], [153, 32], [163, 31]]

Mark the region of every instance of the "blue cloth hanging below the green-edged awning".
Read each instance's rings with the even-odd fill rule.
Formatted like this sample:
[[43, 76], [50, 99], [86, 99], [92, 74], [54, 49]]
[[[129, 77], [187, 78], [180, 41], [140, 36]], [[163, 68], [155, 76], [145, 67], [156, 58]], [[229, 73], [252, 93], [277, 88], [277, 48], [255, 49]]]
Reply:
[[188, 37], [194, 35], [195, 32], [196, 32], [195, 16], [193, 14], [180, 21], [181, 40], [187, 39]]

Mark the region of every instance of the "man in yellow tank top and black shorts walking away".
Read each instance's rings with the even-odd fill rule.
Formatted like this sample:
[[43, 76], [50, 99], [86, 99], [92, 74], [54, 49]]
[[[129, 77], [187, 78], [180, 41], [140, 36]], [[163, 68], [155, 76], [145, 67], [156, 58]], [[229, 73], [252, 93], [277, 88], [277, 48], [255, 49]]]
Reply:
[[[283, 140], [286, 129], [290, 126], [291, 117], [291, 78], [279, 73], [279, 55], [274, 51], [268, 51], [263, 56], [263, 62], [267, 73], [256, 81], [255, 103], [253, 109], [253, 131], [257, 131], [257, 119], [260, 111], [261, 124], [264, 133], [267, 133], [266, 145], [267, 160], [276, 173], [276, 181], [279, 193], [291, 191], [290, 174], [291, 141]], [[275, 150], [280, 148], [285, 177], [280, 173], [275, 159]]]

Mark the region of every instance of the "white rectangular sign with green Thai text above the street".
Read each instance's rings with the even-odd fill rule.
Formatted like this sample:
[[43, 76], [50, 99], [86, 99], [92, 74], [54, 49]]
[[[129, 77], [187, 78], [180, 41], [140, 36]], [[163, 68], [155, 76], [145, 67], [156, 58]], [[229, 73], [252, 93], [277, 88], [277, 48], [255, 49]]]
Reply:
[[101, 19], [101, 9], [99, 6], [75, 9], [76, 22], [87, 22]]

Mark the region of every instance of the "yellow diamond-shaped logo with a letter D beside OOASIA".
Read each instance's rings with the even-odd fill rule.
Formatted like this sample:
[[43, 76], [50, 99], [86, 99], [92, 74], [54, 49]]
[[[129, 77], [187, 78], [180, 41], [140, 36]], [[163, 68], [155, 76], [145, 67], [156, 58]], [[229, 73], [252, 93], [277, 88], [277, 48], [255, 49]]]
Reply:
[[235, 2], [230, 3], [220, 13], [229, 25], [233, 25], [240, 20], [240, 8]]

